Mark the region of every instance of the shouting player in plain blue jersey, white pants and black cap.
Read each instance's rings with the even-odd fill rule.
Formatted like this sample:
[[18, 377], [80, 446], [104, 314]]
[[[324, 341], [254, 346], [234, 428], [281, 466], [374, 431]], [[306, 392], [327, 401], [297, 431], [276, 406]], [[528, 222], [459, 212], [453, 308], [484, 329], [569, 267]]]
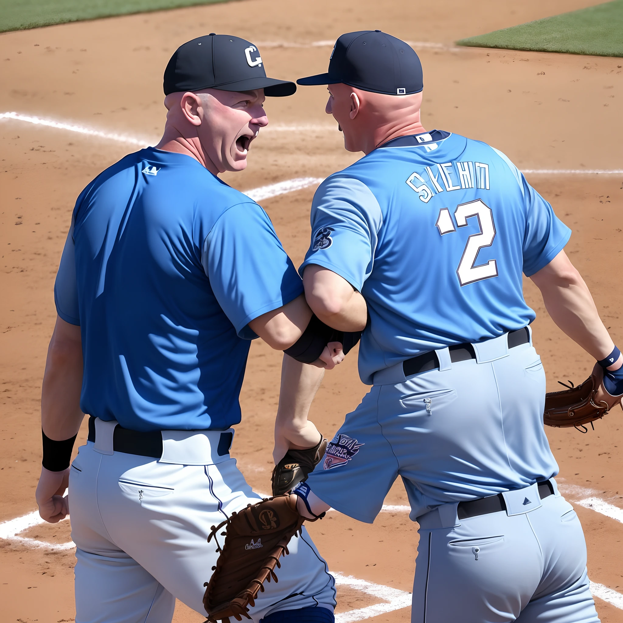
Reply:
[[[245, 168], [267, 124], [265, 95], [295, 90], [266, 77], [250, 42], [194, 39], [164, 74], [159, 145], [78, 197], [54, 290], [37, 488], [41, 516], [55, 522], [69, 513], [69, 480], [77, 623], [170, 623], [175, 597], [203, 612], [211, 526], [260, 500], [229, 455], [250, 340], [323, 368], [341, 359], [316, 335], [325, 325], [310, 321], [267, 214], [217, 178]], [[85, 413], [88, 442], [69, 466]], [[304, 428], [288, 446], [318, 443]], [[331, 623], [325, 561], [305, 530], [289, 549], [249, 616]]]

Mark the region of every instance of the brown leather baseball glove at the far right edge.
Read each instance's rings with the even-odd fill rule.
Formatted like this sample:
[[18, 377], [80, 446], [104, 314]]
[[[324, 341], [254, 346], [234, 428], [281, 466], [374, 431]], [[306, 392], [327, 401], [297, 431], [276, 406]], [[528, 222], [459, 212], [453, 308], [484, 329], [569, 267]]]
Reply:
[[547, 426], [560, 428], [581, 426], [584, 429], [581, 432], [586, 432], [584, 424], [591, 422], [592, 426], [592, 422], [604, 417], [609, 411], [610, 407], [607, 402], [595, 402], [595, 395], [601, 384], [601, 379], [595, 374], [591, 374], [584, 383], [578, 386], [574, 386], [571, 381], [569, 381], [570, 385], [560, 381], [558, 383], [569, 389], [545, 394], [543, 423]]

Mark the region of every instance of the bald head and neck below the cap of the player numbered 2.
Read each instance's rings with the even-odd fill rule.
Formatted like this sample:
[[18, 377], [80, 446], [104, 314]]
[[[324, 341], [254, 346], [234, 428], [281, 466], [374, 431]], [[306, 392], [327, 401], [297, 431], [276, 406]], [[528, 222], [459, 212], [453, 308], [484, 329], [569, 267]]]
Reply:
[[326, 113], [344, 133], [348, 151], [370, 153], [397, 136], [425, 132], [420, 121], [422, 93], [386, 95], [343, 83], [328, 85]]

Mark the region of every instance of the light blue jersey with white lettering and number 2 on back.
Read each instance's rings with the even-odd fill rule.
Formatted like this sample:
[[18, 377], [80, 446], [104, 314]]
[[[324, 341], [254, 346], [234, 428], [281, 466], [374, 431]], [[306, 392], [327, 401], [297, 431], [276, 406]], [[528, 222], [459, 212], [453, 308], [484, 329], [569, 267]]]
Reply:
[[431, 350], [496, 338], [535, 318], [526, 276], [571, 231], [500, 151], [434, 130], [389, 141], [318, 188], [312, 244], [318, 264], [368, 303], [359, 374]]

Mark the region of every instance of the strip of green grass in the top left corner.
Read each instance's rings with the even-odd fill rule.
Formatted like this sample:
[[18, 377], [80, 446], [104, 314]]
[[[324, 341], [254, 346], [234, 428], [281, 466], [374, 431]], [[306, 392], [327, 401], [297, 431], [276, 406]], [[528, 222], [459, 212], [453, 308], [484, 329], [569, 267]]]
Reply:
[[0, 32], [227, 0], [0, 0]]

